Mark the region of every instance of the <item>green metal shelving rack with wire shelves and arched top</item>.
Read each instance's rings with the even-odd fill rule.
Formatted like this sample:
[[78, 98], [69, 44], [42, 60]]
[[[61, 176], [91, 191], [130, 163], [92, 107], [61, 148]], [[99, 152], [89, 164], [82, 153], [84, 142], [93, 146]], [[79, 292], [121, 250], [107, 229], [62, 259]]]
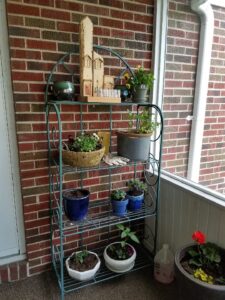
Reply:
[[[68, 54], [63, 58], [68, 57]], [[63, 64], [63, 59], [58, 61], [57, 65]], [[157, 232], [157, 211], [158, 211], [158, 196], [160, 188], [160, 168], [161, 168], [161, 152], [162, 152], [162, 133], [163, 133], [163, 118], [160, 109], [153, 104], [149, 103], [85, 103], [77, 101], [53, 101], [49, 99], [49, 85], [53, 81], [53, 74], [56, 71], [56, 66], [53, 67], [49, 76], [45, 100], [46, 100], [46, 123], [47, 123], [47, 137], [48, 137], [48, 160], [49, 160], [49, 179], [50, 179], [50, 219], [51, 219], [51, 252], [52, 252], [52, 265], [58, 278], [58, 283], [61, 291], [61, 299], [64, 299], [64, 294], [77, 290], [79, 288], [95, 284], [97, 282], [105, 281], [122, 274], [116, 274], [109, 271], [105, 266], [103, 259], [100, 271], [96, 274], [95, 278], [87, 282], [78, 282], [70, 278], [65, 268], [65, 239], [71, 236], [79, 235], [81, 237], [85, 232], [91, 232], [93, 230], [99, 230], [103, 228], [111, 228], [119, 223], [133, 222], [135, 220], [144, 220], [147, 217], [154, 217], [155, 226], [153, 229], [152, 241], [153, 241], [153, 253], [146, 251], [144, 247], [138, 247], [137, 259], [134, 268], [131, 271], [135, 271], [147, 266], [152, 265], [152, 258], [155, 252], [156, 246], [156, 232]], [[66, 68], [67, 69], [67, 68]], [[73, 76], [72, 72], [68, 72]], [[64, 190], [64, 175], [68, 173], [79, 174], [80, 186], [83, 186], [83, 174], [84, 172], [91, 170], [107, 170], [109, 178], [109, 189], [111, 188], [111, 176], [112, 172], [122, 166], [108, 166], [105, 163], [101, 163], [97, 167], [93, 168], [73, 168], [63, 165], [62, 162], [62, 149], [63, 149], [63, 131], [61, 121], [61, 108], [62, 105], [76, 105], [80, 108], [80, 130], [83, 130], [83, 107], [87, 105], [91, 106], [108, 106], [110, 112], [109, 129], [113, 130], [113, 106], [136, 106], [137, 113], [140, 107], [147, 106], [149, 109], [155, 110], [160, 123], [160, 128], [157, 130], [156, 136], [150, 141], [152, 145], [158, 143], [158, 157], [149, 155], [149, 159], [145, 162], [131, 161], [128, 166], [131, 166], [136, 173], [137, 166], [143, 165], [145, 169], [145, 177], [149, 186], [148, 199], [145, 199], [145, 203], [142, 208], [135, 212], [128, 212], [125, 217], [116, 217], [112, 214], [110, 200], [97, 200], [91, 201], [89, 206], [88, 217], [79, 222], [69, 221], [63, 212], [63, 198], [62, 193]], [[52, 115], [54, 114], [54, 117]], [[56, 116], [56, 118], [55, 118]], [[57, 153], [57, 155], [56, 155]], [[57, 158], [56, 158], [57, 157]], [[146, 171], [150, 170], [150, 172]], [[57, 243], [55, 241], [58, 241]], [[137, 247], [136, 247], [137, 248]], [[103, 249], [94, 249], [102, 257]], [[131, 272], [130, 271], [130, 272]]]

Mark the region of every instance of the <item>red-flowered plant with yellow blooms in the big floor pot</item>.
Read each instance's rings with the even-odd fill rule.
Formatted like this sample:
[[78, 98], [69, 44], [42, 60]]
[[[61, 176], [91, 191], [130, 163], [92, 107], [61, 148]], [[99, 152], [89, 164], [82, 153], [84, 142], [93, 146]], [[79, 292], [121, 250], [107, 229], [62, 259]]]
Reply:
[[224, 250], [213, 243], [206, 242], [206, 237], [201, 231], [195, 231], [192, 239], [195, 245], [187, 251], [187, 264], [183, 267], [201, 281], [224, 285]]

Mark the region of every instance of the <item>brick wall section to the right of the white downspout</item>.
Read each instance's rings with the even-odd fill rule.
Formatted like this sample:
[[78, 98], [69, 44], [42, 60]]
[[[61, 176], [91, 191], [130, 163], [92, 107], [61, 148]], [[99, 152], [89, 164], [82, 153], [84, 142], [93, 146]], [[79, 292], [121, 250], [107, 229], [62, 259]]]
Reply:
[[225, 9], [214, 7], [214, 39], [204, 126], [200, 183], [225, 193]]

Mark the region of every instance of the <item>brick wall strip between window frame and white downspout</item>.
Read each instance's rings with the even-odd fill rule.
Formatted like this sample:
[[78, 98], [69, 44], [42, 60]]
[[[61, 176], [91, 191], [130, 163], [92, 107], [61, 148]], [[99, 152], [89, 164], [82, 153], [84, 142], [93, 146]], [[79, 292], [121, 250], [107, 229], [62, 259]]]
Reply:
[[164, 88], [163, 167], [187, 176], [196, 61], [198, 55], [198, 18], [189, 0], [169, 1], [166, 69]]

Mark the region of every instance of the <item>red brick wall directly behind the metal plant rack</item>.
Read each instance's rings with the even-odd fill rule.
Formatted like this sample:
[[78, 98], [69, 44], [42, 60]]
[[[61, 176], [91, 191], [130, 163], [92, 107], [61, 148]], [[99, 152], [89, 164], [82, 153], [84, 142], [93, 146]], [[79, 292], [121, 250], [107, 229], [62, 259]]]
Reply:
[[[79, 77], [78, 32], [80, 20], [88, 15], [94, 23], [94, 43], [109, 46], [122, 54], [132, 67], [151, 67], [153, 0], [7, 0], [12, 80], [19, 147], [26, 249], [29, 274], [49, 268], [49, 195], [44, 88], [55, 62], [69, 50], [75, 53], [71, 67]], [[121, 66], [107, 56], [105, 71], [117, 74]], [[61, 76], [65, 74], [61, 71]], [[77, 91], [79, 85], [76, 85]], [[77, 108], [63, 107], [65, 137], [79, 123]], [[104, 108], [84, 111], [87, 129], [108, 126]], [[124, 127], [124, 113], [114, 112], [114, 129]], [[126, 114], [125, 114], [126, 115]], [[97, 120], [97, 122], [93, 122]], [[124, 186], [131, 177], [129, 168], [113, 175], [114, 187]], [[91, 176], [88, 179], [88, 175]], [[65, 177], [66, 187], [76, 186], [74, 175]], [[86, 174], [85, 184], [92, 200], [107, 196], [105, 173]], [[97, 191], [99, 190], [99, 192]], [[87, 242], [100, 241], [99, 235]], [[71, 241], [68, 241], [70, 243]], [[71, 244], [76, 246], [76, 241]], [[9, 278], [10, 279], [10, 278]], [[12, 278], [11, 278], [12, 279]]]

